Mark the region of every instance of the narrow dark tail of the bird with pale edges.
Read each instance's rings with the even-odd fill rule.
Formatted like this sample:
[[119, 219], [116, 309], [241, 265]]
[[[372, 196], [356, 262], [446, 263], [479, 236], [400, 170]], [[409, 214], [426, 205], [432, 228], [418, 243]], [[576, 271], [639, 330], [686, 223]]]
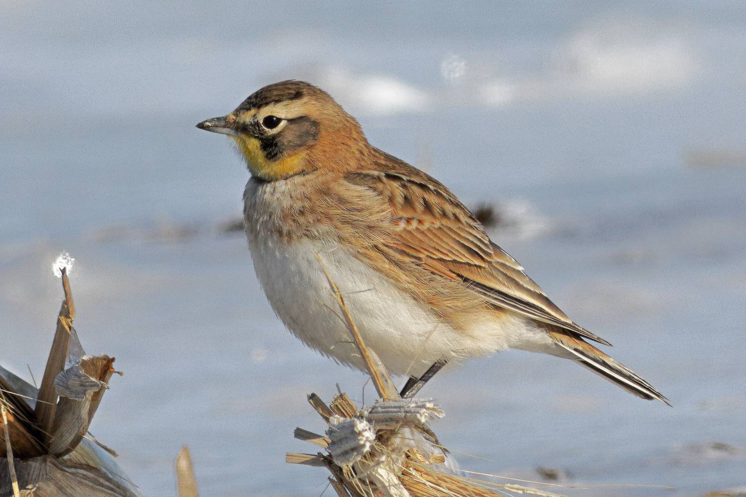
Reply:
[[642, 399], [657, 399], [665, 405], [671, 405], [665, 396], [653, 388], [651, 384], [637, 376], [633, 370], [615, 361], [595, 346], [583, 341], [582, 338], [573, 337], [565, 333], [564, 330], [560, 331], [559, 329], [551, 330], [549, 335], [557, 345], [570, 352], [571, 358], [598, 376], [602, 376], [609, 380], [609, 382], [624, 388], [627, 392], [642, 397]]

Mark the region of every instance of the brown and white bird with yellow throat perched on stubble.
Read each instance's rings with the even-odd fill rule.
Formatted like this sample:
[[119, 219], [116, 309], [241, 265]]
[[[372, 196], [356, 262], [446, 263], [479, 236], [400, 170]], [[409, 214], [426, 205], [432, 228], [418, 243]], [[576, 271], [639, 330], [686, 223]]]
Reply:
[[[197, 124], [251, 173], [243, 217], [257, 279], [293, 335], [366, 370], [339, 315], [416, 394], [446, 365], [506, 349], [567, 358], [642, 399], [668, 399], [589, 342], [439, 181], [371, 145], [324, 90], [285, 80]], [[329, 279], [327, 279], [327, 277]]]

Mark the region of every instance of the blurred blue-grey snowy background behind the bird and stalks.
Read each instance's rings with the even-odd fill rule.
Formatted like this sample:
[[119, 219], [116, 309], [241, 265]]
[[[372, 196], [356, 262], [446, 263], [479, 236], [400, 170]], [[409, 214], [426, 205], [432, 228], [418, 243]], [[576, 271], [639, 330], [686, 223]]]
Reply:
[[69, 250], [78, 334], [125, 373], [92, 431], [143, 493], [175, 495], [187, 443], [205, 496], [321, 494], [284, 463], [292, 430], [322, 429], [307, 393], [360, 401], [365, 377], [283, 330], [231, 231], [248, 171], [194, 127], [305, 79], [491, 208], [674, 405], [556, 358], [472, 361], [424, 391], [463, 467], [572, 496], [746, 485], [746, 7], [712, 3], [1, 0], [0, 364], [40, 379]]

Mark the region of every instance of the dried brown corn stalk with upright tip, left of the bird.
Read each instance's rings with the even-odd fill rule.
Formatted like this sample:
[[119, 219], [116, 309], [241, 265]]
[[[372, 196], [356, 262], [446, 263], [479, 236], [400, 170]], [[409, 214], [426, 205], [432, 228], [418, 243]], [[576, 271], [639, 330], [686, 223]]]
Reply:
[[140, 492], [110, 449], [87, 436], [113, 373], [108, 355], [85, 355], [72, 321], [75, 304], [62, 270], [65, 300], [39, 390], [0, 367], [0, 403], [7, 411], [0, 437], [0, 497], [137, 497]]

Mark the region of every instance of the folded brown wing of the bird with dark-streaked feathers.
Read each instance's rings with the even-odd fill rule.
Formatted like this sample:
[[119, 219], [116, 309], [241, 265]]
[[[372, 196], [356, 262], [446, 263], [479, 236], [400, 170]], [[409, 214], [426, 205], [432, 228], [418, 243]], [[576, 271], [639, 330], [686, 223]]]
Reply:
[[375, 191], [390, 206], [395, 235], [383, 242], [389, 252], [462, 282], [492, 306], [610, 345], [573, 323], [513, 257], [489, 240], [454, 194], [427, 174], [386, 155], [377, 170], [351, 172], [345, 180]]

